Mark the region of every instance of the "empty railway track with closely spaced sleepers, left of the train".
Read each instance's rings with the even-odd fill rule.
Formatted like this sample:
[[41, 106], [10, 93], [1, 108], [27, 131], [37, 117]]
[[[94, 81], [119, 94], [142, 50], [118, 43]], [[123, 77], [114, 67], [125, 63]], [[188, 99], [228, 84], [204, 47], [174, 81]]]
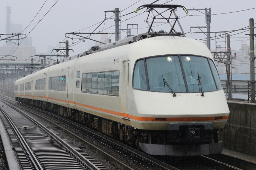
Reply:
[[0, 116], [12, 141], [20, 169], [106, 170], [54, 130], [49, 130], [14, 107], [1, 105]]

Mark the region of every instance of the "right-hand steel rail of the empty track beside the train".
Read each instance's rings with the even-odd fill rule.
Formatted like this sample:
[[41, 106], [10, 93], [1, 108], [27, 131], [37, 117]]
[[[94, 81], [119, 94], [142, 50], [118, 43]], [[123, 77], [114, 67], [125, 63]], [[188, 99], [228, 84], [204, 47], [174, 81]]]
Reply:
[[[2, 101], [3, 102], [3, 101]], [[43, 124], [35, 120], [34, 118], [30, 117], [26, 113], [18, 110], [17, 108], [11, 106], [10, 104], [3, 102], [7, 104], [12, 109], [16, 110], [17, 112], [24, 115], [26, 118], [28, 118], [30, 121], [32, 121], [34, 124], [38, 125], [42, 130], [44, 130], [50, 137], [52, 137], [54, 140], [58, 141], [59, 144], [64, 146], [64, 148], [67, 149], [72, 155], [74, 155], [81, 163], [83, 163], [85, 166], [88, 167], [90, 170], [100, 170], [97, 166], [95, 166], [93, 163], [91, 163], [87, 158], [85, 158], [82, 154], [80, 154], [78, 151], [76, 151], [72, 146], [70, 146], [68, 143], [66, 143], [64, 140], [62, 140], [59, 136], [54, 134], [52, 131], [50, 131], [47, 127], [45, 127]], [[1, 108], [2, 109], [2, 108]]]

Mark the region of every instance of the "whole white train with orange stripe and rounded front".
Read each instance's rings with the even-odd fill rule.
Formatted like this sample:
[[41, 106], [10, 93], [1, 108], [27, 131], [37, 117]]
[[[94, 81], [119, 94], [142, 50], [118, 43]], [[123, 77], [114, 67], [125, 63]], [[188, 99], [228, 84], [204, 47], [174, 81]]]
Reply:
[[151, 155], [220, 153], [229, 116], [212, 54], [180, 34], [92, 47], [17, 80], [15, 98]]

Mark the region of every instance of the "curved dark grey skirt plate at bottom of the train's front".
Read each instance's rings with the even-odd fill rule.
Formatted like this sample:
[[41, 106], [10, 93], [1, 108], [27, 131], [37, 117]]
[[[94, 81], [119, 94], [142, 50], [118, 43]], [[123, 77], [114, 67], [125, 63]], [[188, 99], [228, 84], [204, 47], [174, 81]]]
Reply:
[[140, 148], [150, 155], [195, 156], [219, 154], [222, 142], [203, 145], [155, 145], [139, 143]]

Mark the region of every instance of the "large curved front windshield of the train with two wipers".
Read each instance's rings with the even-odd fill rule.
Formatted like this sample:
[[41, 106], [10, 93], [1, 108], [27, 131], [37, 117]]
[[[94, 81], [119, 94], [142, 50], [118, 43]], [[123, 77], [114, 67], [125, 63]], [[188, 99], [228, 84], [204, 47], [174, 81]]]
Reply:
[[[133, 87], [157, 92], [204, 92], [221, 89], [212, 60], [193, 55], [149, 57], [136, 62]], [[202, 88], [201, 88], [202, 86]]]

